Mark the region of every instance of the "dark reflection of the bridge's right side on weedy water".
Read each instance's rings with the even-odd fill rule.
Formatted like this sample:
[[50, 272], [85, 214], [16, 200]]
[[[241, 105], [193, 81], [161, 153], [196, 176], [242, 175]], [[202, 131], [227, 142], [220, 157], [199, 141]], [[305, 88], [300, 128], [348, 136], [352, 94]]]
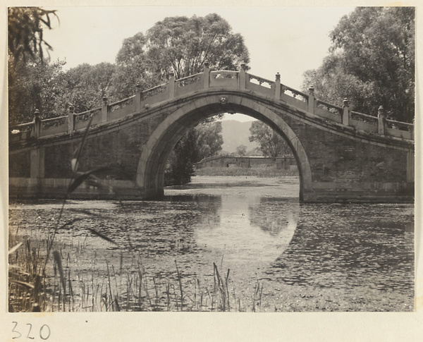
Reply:
[[412, 291], [413, 216], [410, 204], [302, 204], [290, 245], [266, 274], [318, 288]]

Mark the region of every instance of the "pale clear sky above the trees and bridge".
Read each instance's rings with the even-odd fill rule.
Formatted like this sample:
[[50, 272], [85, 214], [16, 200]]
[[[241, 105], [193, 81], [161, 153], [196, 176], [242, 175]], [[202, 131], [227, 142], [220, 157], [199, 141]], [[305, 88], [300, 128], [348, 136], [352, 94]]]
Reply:
[[[282, 6], [68, 6], [57, 10], [60, 23], [44, 30], [54, 51], [51, 59], [65, 68], [81, 63], [114, 63], [123, 39], [145, 33], [168, 16], [218, 13], [240, 33], [250, 51], [250, 73], [300, 90], [302, 74], [318, 68], [328, 54], [329, 32], [354, 7]], [[229, 116], [245, 121], [243, 116]], [[251, 120], [251, 118], [248, 118]]]

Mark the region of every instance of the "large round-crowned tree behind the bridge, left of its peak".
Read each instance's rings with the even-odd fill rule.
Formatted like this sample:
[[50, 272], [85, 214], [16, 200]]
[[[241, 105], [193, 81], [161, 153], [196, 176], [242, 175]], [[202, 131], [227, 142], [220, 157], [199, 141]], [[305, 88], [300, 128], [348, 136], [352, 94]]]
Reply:
[[217, 70], [237, 70], [250, 61], [243, 37], [216, 13], [159, 21], [147, 31], [147, 56], [159, 81], [170, 73], [176, 79], [200, 73], [206, 61]]

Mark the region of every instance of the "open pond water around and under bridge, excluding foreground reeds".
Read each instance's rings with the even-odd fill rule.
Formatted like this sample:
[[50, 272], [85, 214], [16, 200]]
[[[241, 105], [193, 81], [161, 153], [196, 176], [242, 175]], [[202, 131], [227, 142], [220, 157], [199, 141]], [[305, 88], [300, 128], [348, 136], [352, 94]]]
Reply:
[[[130, 269], [136, 253], [152, 276], [176, 280], [177, 265], [187, 288], [211, 282], [214, 263], [229, 269], [243, 303], [262, 286], [261, 311], [413, 310], [412, 204], [300, 204], [298, 186], [293, 177], [203, 177], [159, 202], [71, 200], [63, 221], [81, 220], [57, 241], [78, 254], [68, 267], [80, 278], [93, 258], [118, 268], [120, 256]], [[42, 240], [60, 205], [11, 204], [11, 228]], [[77, 241], [90, 248], [75, 251]]]

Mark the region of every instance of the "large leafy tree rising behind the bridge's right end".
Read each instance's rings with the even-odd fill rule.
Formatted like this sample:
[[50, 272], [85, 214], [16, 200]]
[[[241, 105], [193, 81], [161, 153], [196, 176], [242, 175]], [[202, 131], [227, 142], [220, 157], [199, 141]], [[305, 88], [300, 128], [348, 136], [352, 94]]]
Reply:
[[317, 70], [306, 71], [303, 89], [319, 99], [376, 115], [384, 106], [398, 121], [415, 116], [415, 8], [359, 7], [330, 33], [332, 45]]

